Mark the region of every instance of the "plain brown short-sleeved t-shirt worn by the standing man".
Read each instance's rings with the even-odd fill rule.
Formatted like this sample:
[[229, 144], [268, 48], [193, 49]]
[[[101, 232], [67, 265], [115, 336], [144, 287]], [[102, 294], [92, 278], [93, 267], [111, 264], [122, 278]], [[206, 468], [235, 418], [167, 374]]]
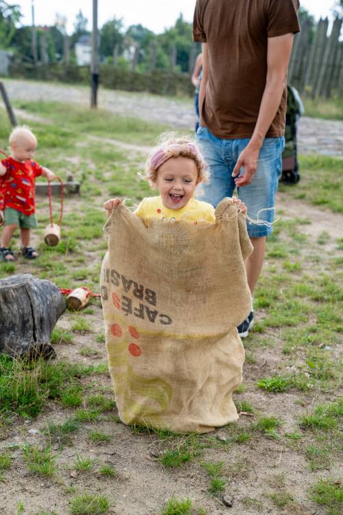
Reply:
[[[207, 43], [200, 125], [225, 139], [251, 137], [265, 89], [268, 38], [300, 30], [298, 0], [197, 0], [193, 39]], [[286, 90], [266, 137], [285, 132]]]

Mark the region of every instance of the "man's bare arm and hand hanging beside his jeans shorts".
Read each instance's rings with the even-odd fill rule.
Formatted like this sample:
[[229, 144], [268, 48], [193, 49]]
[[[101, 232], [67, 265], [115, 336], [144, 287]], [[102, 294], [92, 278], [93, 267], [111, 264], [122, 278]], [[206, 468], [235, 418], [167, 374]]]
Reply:
[[[293, 34], [268, 38], [267, 77], [259, 116], [249, 144], [239, 155], [233, 170], [233, 176], [236, 176], [235, 183], [238, 187], [250, 184], [257, 170], [259, 150], [280, 106], [283, 90], [287, 84], [287, 68], [292, 44]], [[244, 174], [238, 176], [241, 167], [244, 167]]]

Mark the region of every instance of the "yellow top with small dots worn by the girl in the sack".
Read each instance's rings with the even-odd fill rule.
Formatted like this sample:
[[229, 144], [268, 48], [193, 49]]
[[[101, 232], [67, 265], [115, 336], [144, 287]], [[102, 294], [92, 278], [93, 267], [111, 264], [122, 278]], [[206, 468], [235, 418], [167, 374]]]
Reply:
[[185, 222], [215, 222], [214, 207], [191, 198], [181, 209], [169, 209], [161, 201], [161, 196], [143, 198], [136, 211], [139, 218], [166, 218], [167, 220], [185, 220]]

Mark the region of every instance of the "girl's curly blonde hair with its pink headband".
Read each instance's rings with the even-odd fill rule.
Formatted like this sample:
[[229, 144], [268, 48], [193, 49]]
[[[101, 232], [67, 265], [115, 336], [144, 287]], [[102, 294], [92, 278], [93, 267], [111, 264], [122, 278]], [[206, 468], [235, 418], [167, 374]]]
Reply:
[[154, 150], [150, 152], [145, 163], [145, 173], [140, 174], [141, 178], [148, 181], [152, 188], [156, 187], [158, 168], [163, 164], [161, 163], [156, 167], [156, 156], [162, 157], [163, 163], [171, 157], [181, 156], [193, 159], [194, 163], [196, 163], [196, 168], [198, 169], [197, 184], [209, 182], [208, 167], [200, 154], [200, 151], [196, 147], [196, 144], [194, 144], [194, 142], [187, 136], [180, 137], [174, 133], [163, 133], [158, 138]]

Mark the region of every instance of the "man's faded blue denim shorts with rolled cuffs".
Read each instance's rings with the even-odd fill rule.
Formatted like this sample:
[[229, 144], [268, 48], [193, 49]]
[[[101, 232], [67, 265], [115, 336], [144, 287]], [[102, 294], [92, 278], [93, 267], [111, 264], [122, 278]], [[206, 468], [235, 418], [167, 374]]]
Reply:
[[[202, 201], [217, 207], [223, 198], [233, 196], [236, 185], [231, 174], [239, 154], [249, 141], [250, 138], [217, 138], [208, 128], [202, 126], [198, 128], [196, 144], [211, 172], [209, 184], [200, 187], [199, 198]], [[259, 152], [259, 162], [252, 182], [247, 186], [237, 188], [237, 196], [246, 204], [248, 216], [252, 220], [263, 220], [269, 224], [274, 221], [274, 198], [282, 172], [284, 146], [284, 137], [265, 138]], [[241, 173], [243, 173], [243, 169]], [[203, 194], [201, 190], [203, 190]], [[261, 211], [261, 209], [268, 208], [268, 211]], [[247, 229], [251, 238], [260, 238], [272, 233], [272, 226], [254, 224], [248, 220]]]

